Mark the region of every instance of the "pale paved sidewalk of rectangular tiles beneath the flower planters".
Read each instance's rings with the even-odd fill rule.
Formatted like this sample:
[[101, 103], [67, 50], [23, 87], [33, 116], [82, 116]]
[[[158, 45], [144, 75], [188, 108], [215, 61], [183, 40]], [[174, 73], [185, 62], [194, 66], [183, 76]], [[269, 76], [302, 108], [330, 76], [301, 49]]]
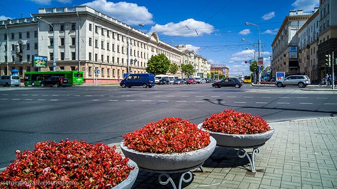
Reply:
[[[250, 171], [248, 159], [239, 158], [236, 150], [217, 146], [203, 165], [206, 172], [192, 170], [192, 180], [182, 188], [337, 188], [337, 117], [270, 126], [275, 132], [255, 156], [257, 172]], [[120, 151], [119, 143], [111, 145]], [[140, 170], [133, 188], [173, 188], [171, 183], [161, 185], [158, 175]], [[171, 177], [178, 188], [180, 174]]]

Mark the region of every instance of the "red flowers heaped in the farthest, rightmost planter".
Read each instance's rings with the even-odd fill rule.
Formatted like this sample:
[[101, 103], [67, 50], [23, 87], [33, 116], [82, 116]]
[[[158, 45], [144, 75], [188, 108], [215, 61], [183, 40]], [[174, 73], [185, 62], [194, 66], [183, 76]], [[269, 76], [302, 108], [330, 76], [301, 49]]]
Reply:
[[267, 121], [259, 116], [225, 109], [205, 118], [203, 127], [212, 132], [227, 134], [257, 134], [270, 130]]

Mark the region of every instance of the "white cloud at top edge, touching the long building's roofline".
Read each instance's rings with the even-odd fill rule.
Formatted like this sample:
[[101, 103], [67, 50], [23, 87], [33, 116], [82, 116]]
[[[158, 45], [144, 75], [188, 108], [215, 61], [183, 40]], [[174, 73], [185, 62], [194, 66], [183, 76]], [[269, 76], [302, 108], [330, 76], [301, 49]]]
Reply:
[[[126, 2], [107, 2], [107, 0], [95, 0], [90, 3], [83, 4], [97, 11], [122, 21], [128, 25], [144, 25], [153, 24], [153, 15], [148, 12], [146, 7], [140, 7], [137, 4]], [[135, 10], [135, 11], [131, 11]]]

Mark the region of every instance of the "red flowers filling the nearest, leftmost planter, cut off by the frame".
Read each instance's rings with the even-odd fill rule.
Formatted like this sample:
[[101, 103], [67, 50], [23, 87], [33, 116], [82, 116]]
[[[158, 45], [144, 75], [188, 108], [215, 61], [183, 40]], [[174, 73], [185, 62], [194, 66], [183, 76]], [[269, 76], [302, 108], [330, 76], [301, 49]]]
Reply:
[[85, 141], [44, 141], [0, 172], [0, 188], [112, 188], [134, 169], [116, 146]]

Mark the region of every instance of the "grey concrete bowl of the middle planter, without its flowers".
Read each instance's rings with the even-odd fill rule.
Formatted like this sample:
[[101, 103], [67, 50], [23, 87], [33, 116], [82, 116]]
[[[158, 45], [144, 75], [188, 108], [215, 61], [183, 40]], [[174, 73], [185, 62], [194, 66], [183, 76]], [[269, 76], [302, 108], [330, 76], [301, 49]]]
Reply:
[[210, 137], [211, 143], [205, 148], [195, 151], [173, 154], [138, 152], [124, 146], [121, 142], [122, 152], [137, 163], [140, 168], [149, 170], [180, 170], [202, 164], [213, 153], [216, 140]]

